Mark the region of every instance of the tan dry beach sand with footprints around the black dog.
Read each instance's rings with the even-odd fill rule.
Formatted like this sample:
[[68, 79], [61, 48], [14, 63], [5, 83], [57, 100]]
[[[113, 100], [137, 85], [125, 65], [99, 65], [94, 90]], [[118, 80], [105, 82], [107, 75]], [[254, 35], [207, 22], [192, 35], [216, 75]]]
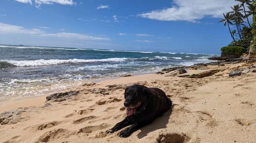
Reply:
[[[0, 116], [0, 122], [8, 116], [8, 124], [0, 125], [0, 142], [255, 143], [256, 73], [229, 77], [238, 66], [243, 67], [211, 66], [225, 71], [203, 78], [166, 76], [168, 73], [122, 77], [78, 87], [77, 96], [62, 102], [46, 102], [46, 96], [0, 102], [0, 111], [8, 111]], [[119, 131], [105, 134], [125, 118], [124, 87], [136, 82], [162, 89], [173, 101], [172, 111], [130, 137], [120, 138]]]

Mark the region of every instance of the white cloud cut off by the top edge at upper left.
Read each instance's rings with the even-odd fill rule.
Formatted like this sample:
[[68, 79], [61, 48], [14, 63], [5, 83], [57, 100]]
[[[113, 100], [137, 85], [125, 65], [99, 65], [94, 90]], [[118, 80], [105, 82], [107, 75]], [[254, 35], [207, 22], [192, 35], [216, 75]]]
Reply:
[[[32, 0], [15, 0], [21, 3], [30, 3], [32, 5]], [[36, 4], [36, 7], [39, 8], [42, 4], [52, 5], [54, 3], [61, 4], [61, 5], [76, 5], [73, 0], [33, 0]]]

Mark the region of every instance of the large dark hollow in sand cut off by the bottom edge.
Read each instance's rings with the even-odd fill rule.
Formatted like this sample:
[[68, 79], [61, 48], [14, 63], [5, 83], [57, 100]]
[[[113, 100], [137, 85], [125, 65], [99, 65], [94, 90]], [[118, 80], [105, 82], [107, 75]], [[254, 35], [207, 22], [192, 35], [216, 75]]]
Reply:
[[187, 136], [186, 134], [178, 134], [178, 133], [165, 133], [165, 134], [160, 134], [156, 140], [157, 143], [187, 143], [190, 141], [190, 137]]

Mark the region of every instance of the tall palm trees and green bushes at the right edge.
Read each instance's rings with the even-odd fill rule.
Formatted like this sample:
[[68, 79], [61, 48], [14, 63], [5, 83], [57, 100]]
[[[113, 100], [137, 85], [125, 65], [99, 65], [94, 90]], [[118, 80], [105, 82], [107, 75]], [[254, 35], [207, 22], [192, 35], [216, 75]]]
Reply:
[[[223, 13], [224, 18], [221, 19], [219, 22], [224, 22], [224, 26], [228, 26], [229, 33], [233, 39], [233, 41], [228, 44], [228, 47], [235, 46], [235, 47], [244, 47], [249, 49], [251, 40], [254, 40], [254, 51], [256, 51], [256, 1], [255, 0], [235, 0], [240, 2], [240, 4], [234, 5], [230, 7], [232, 11], [227, 12], [226, 14]], [[247, 10], [245, 10], [247, 7]], [[253, 16], [252, 24], [249, 23], [248, 16]], [[247, 21], [247, 23], [245, 22]], [[247, 25], [245, 25], [247, 24]], [[235, 25], [235, 29], [231, 30], [230, 25]], [[223, 47], [224, 48], [224, 47]], [[224, 48], [225, 49], [225, 48]], [[228, 48], [229, 50], [236, 50], [233, 51], [237, 53], [236, 48]], [[228, 50], [228, 51], [229, 51]], [[221, 50], [222, 51], [222, 50]], [[229, 51], [232, 54], [232, 51]], [[244, 53], [244, 52], [243, 52]], [[256, 53], [256, 52], [255, 52]], [[242, 54], [242, 53], [241, 53]]]

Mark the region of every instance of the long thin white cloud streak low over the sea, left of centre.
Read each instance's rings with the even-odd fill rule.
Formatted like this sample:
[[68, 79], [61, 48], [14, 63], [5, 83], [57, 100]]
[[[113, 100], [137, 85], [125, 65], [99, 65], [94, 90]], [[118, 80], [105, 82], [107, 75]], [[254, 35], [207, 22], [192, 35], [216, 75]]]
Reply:
[[93, 37], [78, 33], [55, 33], [55, 34], [42, 34], [42, 37], [59, 37], [59, 38], [74, 38], [77, 40], [110, 40], [109, 38]]

